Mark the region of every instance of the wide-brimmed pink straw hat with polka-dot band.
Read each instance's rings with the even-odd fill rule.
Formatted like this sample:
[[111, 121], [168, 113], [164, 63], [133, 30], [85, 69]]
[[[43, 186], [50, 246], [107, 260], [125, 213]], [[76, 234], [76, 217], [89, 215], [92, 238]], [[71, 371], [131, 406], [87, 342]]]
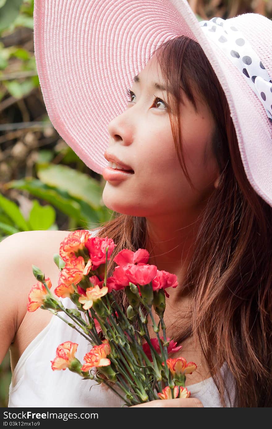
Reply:
[[263, 15], [199, 22], [186, 0], [35, 0], [35, 57], [53, 126], [101, 174], [125, 89], [159, 45], [181, 35], [208, 57], [248, 180], [272, 206], [272, 21]]

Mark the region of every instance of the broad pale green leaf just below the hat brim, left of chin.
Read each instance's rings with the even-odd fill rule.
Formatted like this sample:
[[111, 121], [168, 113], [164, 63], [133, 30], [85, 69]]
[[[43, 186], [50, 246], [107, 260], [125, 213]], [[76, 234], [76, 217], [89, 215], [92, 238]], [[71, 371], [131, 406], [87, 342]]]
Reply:
[[69, 195], [81, 199], [92, 208], [101, 206], [100, 183], [85, 173], [64, 165], [37, 166], [37, 176], [45, 184], [66, 190]]

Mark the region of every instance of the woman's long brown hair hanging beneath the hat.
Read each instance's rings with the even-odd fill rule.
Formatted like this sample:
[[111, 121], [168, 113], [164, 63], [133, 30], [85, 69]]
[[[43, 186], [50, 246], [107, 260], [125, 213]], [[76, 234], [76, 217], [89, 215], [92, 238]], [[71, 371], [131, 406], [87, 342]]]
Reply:
[[[159, 46], [156, 56], [166, 87], [169, 83], [174, 88], [174, 97], [168, 96], [169, 116], [184, 174], [192, 184], [182, 152], [180, 86], [196, 108], [193, 85], [214, 116], [211, 144], [220, 171], [180, 285], [189, 293], [191, 323], [184, 329], [180, 317], [174, 340], [181, 344], [190, 336], [197, 338], [223, 407], [227, 386], [220, 366], [225, 361], [235, 380], [232, 406], [272, 406], [272, 208], [248, 182], [226, 96], [199, 43], [179, 36]], [[114, 212], [110, 221], [98, 226], [98, 236], [116, 244], [108, 276], [119, 251], [146, 246], [145, 218]], [[128, 305], [123, 291], [116, 297]]]

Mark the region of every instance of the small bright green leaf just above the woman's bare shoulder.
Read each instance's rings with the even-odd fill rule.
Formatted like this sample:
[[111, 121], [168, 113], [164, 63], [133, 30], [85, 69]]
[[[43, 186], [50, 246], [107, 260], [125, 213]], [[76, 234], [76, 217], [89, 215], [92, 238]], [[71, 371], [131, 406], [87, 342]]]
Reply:
[[33, 230], [48, 230], [55, 222], [56, 212], [51, 205], [40, 205], [35, 199], [29, 213], [29, 224]]

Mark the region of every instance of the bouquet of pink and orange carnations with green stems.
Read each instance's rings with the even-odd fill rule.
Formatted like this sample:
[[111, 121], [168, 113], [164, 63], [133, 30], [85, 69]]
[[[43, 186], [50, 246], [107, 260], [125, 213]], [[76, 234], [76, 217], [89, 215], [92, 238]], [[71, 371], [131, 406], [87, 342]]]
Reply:
[[[128, 406], [154, 399], [188, 398], [186, 374], [197, 367], [183, 357], [168, 357], [181, 346], [176, 347], [177, 343], [166, 336], [163, 320], [165, 296], [169, 297], [166, 289], [177, 287], [177, 276], [149, 265], [147, 250], [123, 249], [113, 258], [117, 266], [107, 278], [107, 264], [115, 246], [112, 239], [92, 237], [87, 230], [69, 233], [61, 242], [59, 254], [54, 255], [60, 270], [54, 293], [50, 278], [32, 266], [38, 282], [29, 293], [28, 311], [39, 307], [50, 311], [92, 346], [81, 363], [75, 356], [78, 344], [65, 341], [57, 347], [52, 370], [68, 368], [85, 380], [104, 383]], [[126, 309], [115, 299], [119, 290], [127, 296]], [[60, 297], [69, 297], [76, 308], [65, 308]], [[148, 315], [154, 338], [150, 338]]]

